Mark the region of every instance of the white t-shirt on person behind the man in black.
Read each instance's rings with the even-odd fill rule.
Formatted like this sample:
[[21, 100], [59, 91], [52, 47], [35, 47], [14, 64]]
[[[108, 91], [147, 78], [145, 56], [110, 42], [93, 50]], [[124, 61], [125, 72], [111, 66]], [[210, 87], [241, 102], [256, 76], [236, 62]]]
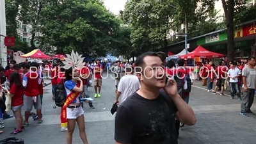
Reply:
[[122, 104], [124, 100], [126, 100], [129, 96], [132, 95], [132, 93], [136, 92], [138, 89], [140, 89], [140, 81], [138, 77], [129, 74], [122, 77], [117, 88], [118, 92], [122, 93], [118, 100], [119, 104]]

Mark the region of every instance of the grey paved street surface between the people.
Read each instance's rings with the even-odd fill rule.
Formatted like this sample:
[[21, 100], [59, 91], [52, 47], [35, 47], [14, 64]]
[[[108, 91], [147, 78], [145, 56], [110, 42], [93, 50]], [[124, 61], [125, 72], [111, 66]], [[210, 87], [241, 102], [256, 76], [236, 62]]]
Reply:
[[[105, 74], [106, 76], [106, 74]], [[109, 110], [115, 99], [114, 79], [108, 77], [103, 80], [102, 97], [94, 99], [95, 109], [84, 106], [86, 133], [90, 144], [113, 144], [114, 119]], [[195, 84], [191, 92], [189, 105], [196, 113], [197, 123], [194, 126], [185, 126], [180, 130], [179, 143], [182, 144], [229, 144], [229, 143], [256, 143], [256, 115], [250, 117], [241, 116], [240, 101], [230, 100], [230, 97], [212, 95]], [[94, 95], [93, 88], [89, 88]], [[65, 132], [60, 131], [60, 108], [53, 109], [54, 102], [51, 99], [51, 84], [45, 86], [43, 115], [44, 122], [41, 125], [33, 122], [31, 118], [29, 127], [17, 135], [24, 139], [26, 144], [63, 144]], [[256, 112], [254, 103], [252, 111]], [[0, 139], [8, 138], [15, 127], [15, 119], [3, 120], [5, 128]], [[76, 128], [73, 136], [74, 143], [82, 143], [79, 131]]]

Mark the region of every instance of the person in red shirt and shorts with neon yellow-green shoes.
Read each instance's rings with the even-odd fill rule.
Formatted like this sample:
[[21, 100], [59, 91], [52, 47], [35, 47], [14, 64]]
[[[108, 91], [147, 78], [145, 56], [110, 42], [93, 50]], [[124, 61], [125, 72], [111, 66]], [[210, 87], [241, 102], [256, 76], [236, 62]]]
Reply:
[[[95, 95], [94, 97], [100, 97], [100, 90], [102, 86], [102, 72], [103, 72], [103, 67], [100, 64], [100, 60], [96, 61], [96, 65], [93, 67], [93, 72], [94, 72], [94, 91]], [[99, 93], [97, 93], [97, 88], [99, 90]]]

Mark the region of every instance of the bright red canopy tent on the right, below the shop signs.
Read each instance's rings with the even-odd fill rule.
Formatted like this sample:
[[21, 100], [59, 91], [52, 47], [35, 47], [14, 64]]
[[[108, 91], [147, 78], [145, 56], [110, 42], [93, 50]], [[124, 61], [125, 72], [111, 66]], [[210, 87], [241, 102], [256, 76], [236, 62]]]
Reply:
[[198, 45], [194, 51], [189, 52], [188, 54], [185, 54], [183, 56], [179, 56], [179, 58], [188, 58], [193, 59], [196, 57], [200, 58], [221, 58], [224, 54], [219, 54], [216, 52], [208, 51], [207, 49], [204, 49], [201, 45]]

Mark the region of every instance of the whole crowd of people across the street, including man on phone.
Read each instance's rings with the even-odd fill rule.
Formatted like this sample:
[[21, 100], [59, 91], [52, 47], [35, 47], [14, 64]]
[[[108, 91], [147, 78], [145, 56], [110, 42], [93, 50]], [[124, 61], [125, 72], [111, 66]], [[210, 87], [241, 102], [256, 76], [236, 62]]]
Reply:
[[[241, 115], [254, 115], [250, 109], [256, 87], [254, 57], [250, 56], [244, 67], [240, 61], [231, 61], [229, 68], [225, 67], [223, 61], [220, 61], [216, 68], [212, 67], [212, 61], [204, 61], [202, 64], [204, 67], [200, 68], [200, 77], [203, 79], [203, 86], [207, 86], [207, 92], [216, 94], [220, 89], [221, 95], [224, 95], [225, 83], [228, 81], [231, 99], [237, 95], [238, 100], [241, 100]], [[71, 144], [77, 123], [81, 140], [87, 144], [81, 99], [90, 98], [88, 87], [92, 84], [94, 98], [101, 97], [104, 65], [100, 60], [96, 60], [95, 63], [84, 63], [81, 69], [64, 69], [63, 66], [63, 63], [52, 63], [51, 67], [52, 99], [58, 100], [60, 97], [56, 95], [56, 90], [61, 84], [65, 92], [65, 103], [61, 106], [60, 112], [61, 131], [67, 131], [67, 143]], [[106, 63], [105, 67], [109, 67], [115, 75], [114, 104], [119, 104], [115, 118], [116, 143], [178, 143], [180, 127], [196, 123], [195, 113], [188, 105], [193, 79], [184, 60], [180, 59], [175, 63], [166, 61], [164, 52], [145, 52], [138, 56], [135, 63], [116, 61]], [[141, 69], [136, 70], [138, 67]], [[12, 135], [19, 134], [24, 127], [29, 126], [28, 118], [31, 115], [38, 124], [43, 122], [42, 69], [42, 63], [16, 64], [15, 61], [10, 63], [8, 70], [0, 67], [0, 74], [3, 77], [0, 110], [3, 118], [12, 117], [6, 113], [3, 106], [4, 100], [10, 95], [11, 109], [16, 120], [16, 128]], [[212, 90], [215, 78], [216, 86]], [[94, 109], [91, 100], [84, 101]], [[22, 106], [25, 109], [24, 119], [21, 113]], [[36, 113], [32, 112], [33, 106]], [[0, 128], [4, 128], [3, 122], [0, 124]], [[0, 131], [1, 133], [3, 131]]]

